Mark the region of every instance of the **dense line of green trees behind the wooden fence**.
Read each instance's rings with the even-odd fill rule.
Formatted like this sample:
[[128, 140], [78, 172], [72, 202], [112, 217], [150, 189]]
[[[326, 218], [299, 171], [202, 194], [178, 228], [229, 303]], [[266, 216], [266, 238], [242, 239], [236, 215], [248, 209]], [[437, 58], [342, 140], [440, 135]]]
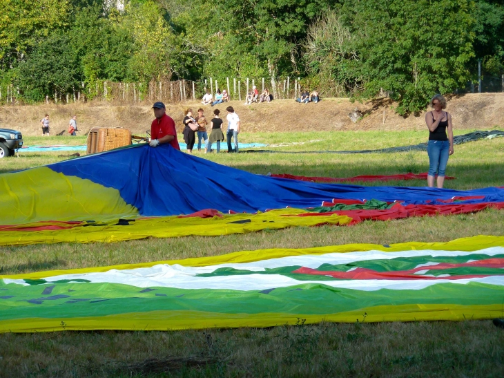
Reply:
[[478, 60], [504, 73], [504, 1], [0, 0], [0, 88], [25, 102], [104, 81], [302, 77], [407, 114], [476, 81]]

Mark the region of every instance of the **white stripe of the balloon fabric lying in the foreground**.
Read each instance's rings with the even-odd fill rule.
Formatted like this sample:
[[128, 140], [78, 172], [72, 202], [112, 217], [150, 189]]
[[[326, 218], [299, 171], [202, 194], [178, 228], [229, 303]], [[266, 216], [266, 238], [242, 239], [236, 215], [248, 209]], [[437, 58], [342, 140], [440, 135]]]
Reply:
[[[418, 290], [436, 283], [459, 283], [485, 282], [494, 285], [504, 285], [504, 276], [490, 276], [485, 278], [467, 278], [461, 280], [349, 280], [349, 281], [298, 281], [294, 278], [281, 274], [249, 274], [238, 276], [213, 276], [199, 277], [197, 274], [211, 273], [221, 267], [233, 267], [235, 269], [250, 270], [251, 272], [264, 271], [266, 267], [282, 267], [301, 265], [304, 267], [317, 268], [322, 263], [341, 264], [362, 260], [374, 260], [395, 257], [416, 256], [463, 256], [467, 254], [486, 254], [494, 256], [503, 254], [503, 247], [492, 247], [475, 252], [449, 252], [449, 251], [403, 251], [403, 252], [350, 252], [346, 254], [324, 254], [289, 256], [273, 258], [264, 261], [242, 264], [222, 264], [206, 267], [184, 267], [182, 265], [159, 264], [153, 267], [137, 268], [133, 270], [110, 270], [108, 272], [95, 272], [88, 274], [63, 274], [45, 278], [48, 282], [68, 279], [86, 279], [93, 283], [122, 283], [137, 287], [175, 287], [180, 289], [229, 289], [229, 290], [265, 290], [273, 287], [288, 287], [302, 283], [321, 283], [332, 287], [346, 287], [356, 290], [380, 290], [389, 288], [394, 290]], [[313, 277], [316, 278], [316, 277]], [[5, 283], [17, 283], [28, 285], [23, 280], [4, 279]]]

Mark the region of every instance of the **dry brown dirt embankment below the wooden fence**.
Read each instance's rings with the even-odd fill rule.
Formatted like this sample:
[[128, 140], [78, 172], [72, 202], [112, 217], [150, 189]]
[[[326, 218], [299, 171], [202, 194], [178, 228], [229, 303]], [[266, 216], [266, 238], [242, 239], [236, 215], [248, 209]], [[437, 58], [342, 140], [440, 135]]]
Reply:
[[[243, 131], [338, 131], [338, 130], [405, 130], [424, 129], [425, 112], [415, 117], [400, 117], [394, 113], [390, 100], [351, 103], [347, 99], [324, 99], [318, 104], [298, 104], [293, 100], [275, 100], [270, 104], [246, 106], [238, 101], [221, 104], [221, 115], [231, 105], [242, 120]], [[182, 131], [184, 109], [194, 111], [198, 102], [166, 104], [166, 111], [173, 117], [177, 130]], [[203, 106], [206, 117], [211, 119], [214, 108]], [[358, 108], [363, 114], [358, 122], [352, 122], [348, 114]], [[447, 111], [452, 114], [456, 129], [492, 129], [504, 125], [504, 93], [469, 94], [452, 97]], [[153, 111], [150, 106], [121, 106], [106, 103], [88, 104], [40, 104], [1, 106], [0, 128], [17, 129], [25, 135], [41, 134], [41, 118], [50, 115], [52, 134], [68, 128], [72, 115], [77, 115], [79, 129], [84, 133], [93, 126], [121, 126], [134, 134], [144, 135], [150, 129]]]

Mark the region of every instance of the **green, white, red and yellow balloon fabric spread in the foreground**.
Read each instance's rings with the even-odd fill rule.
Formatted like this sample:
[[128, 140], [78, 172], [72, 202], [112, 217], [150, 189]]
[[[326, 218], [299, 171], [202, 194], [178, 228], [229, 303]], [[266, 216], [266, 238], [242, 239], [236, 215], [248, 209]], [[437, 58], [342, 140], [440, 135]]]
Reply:
[[504, 237], [264, 249], [0, 276], [0, 332], [504, 316]]

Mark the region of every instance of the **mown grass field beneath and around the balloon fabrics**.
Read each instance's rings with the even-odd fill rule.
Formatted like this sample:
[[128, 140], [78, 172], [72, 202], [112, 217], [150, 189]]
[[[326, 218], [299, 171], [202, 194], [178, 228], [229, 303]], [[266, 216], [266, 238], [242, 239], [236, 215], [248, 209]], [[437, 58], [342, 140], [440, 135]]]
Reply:
[[[425, 138], [425, 133], [416, 131], [240, 134], [240, 142], [304, 142], [267, 148], [278, 151], [379, 149], [416, 144]], [[83, 137], [25, 140], [26, 145], [85, 142]], [[0, 173], [64, 160], [59, 154], [66, 152], [24, 153], [20, 158], [3, 159]], [[421, 173], [428, 169], [425, 152], [200, 156], [260, 174], [349, 177]], [[456, 146], [447, 175], [457, 179], [445, 182], [445, 187], [503, 186], [503, 162], [504, 138]], [[386, 185], [425, 186], [425, 182]], [[215, 238], [191, 236], [105, 245], [5, 247], [0, 248], [0, 274], [211, 256], [271, 247], [447, 241], [478, 234], [503, 236], [504, 211], [364, 222], [352, 227], [297, 227]], [[0, 377], [502, 377], [503, 356], [504, 331], [495, 328], [491, 321], [0, 334]], [[197, 359], [193, 361], [191, 357]], [[167, 368], [171, 369], [162, 372]]]

